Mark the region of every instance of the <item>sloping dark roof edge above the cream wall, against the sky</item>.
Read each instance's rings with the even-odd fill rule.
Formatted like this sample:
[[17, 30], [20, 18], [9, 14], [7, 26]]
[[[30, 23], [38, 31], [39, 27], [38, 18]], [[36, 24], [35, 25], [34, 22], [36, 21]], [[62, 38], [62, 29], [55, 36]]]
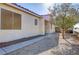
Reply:
[[33, 15], [33, 16], [41, 17], [39, 14], [37, 14], [37, 13], [27, 9], [27, 8], [24, 8], [24, 7], [22, 7], [22, 6], [20, 6], [20, 5], [16, 4], [16, 3], [5, 3], [5, 4], [7, 4], [9, 6], [12, 6], [12, 7], [15, 7], [15, 8], [17, 8], [17, 9], [23, 11], [23, 12], [26, 12], [26, 13], [29, 13], [29, 14]]

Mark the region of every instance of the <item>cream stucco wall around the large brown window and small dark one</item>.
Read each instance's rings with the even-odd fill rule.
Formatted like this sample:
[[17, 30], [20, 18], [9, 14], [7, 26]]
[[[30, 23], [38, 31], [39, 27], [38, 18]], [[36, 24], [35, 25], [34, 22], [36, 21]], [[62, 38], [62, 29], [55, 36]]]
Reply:
[[[44, 34], [44, 21], [38, 17], [19, 11], [18, 9], [10, 6], [0, 4], [0, 8], [4, 8], [16, 13], [21, 14], [21, 30], [1, 30], [0, 29], [0, 42], [8, 42], [24, 37], [36, 36]], [[34, 19], [38, 19], [38, 25], [34, 25]], [[0, 17], [1, 20], [1, 17]]]

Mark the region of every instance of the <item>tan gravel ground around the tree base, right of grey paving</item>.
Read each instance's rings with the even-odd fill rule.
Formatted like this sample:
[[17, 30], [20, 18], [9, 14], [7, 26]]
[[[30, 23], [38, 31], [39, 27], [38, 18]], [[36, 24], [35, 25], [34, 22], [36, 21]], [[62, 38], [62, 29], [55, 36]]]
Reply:
[[[75, 44], [73, 44], [72, 40]], [[72, 36], [68, 34], [67, 39], [62, 39], [61, 35], [59, 36], [58, 46], [51, 48], [47, 51], [40, 53], [39, 55], [79, 55], [79, 41], [72, 39]]]

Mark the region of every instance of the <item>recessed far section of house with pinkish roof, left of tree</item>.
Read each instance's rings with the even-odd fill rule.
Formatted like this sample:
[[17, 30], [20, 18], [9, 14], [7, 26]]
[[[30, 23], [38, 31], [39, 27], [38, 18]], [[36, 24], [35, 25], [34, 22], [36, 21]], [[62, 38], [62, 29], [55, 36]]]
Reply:
[[51, 23], [49, 14], [42, 15], [45, 22], [45, 33], [53, 33], [55, 32], [55, 25]]

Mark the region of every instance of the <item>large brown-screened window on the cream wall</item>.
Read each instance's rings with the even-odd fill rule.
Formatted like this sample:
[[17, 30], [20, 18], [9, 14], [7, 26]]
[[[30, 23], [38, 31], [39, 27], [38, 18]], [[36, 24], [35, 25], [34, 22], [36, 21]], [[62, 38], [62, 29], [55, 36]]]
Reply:
[[21, 29], [21, 15], [1, 9], [1, 29]]

